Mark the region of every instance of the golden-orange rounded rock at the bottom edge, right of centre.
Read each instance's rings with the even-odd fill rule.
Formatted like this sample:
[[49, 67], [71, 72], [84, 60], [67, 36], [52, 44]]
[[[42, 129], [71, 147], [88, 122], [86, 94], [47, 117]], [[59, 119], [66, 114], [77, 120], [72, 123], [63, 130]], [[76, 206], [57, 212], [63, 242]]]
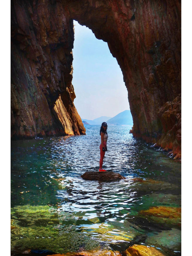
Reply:
[[125, 256], [164, 256], [160, 250], [149, 247], [145, 245], [136, 245], [130, 246], [125, 252], [123, 252]]

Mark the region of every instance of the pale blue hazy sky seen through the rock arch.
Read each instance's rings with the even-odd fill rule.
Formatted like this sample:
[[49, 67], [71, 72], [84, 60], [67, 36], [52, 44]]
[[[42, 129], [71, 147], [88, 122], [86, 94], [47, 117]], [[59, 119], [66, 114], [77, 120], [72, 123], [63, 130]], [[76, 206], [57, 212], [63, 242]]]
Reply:
[[129, 110], [122, 71], [108, 45], [74, 20], [73, 80], [75, 107], [82, 119], [116, 116]]

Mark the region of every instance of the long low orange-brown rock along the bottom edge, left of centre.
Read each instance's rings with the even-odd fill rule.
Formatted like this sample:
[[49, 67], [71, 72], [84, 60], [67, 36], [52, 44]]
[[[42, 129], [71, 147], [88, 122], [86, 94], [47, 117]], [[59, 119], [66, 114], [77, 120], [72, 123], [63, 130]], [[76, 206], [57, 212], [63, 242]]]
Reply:
[[[47, 255], [51, 256], [51, 255]], [[52, 254], [52, 256], [122, 256], [119, 251], [89, 250], [81, 252], [68, 252], [66, 254]]]

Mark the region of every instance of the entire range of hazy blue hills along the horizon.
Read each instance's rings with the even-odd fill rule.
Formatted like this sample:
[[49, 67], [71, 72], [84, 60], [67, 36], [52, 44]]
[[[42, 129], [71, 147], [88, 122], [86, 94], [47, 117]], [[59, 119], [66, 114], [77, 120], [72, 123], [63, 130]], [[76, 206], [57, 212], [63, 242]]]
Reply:
[[101, 116], [93, 120], [82, 119], [83, 124], [101, 125], [107, 122], [109, 125], [133, 125], [133, 118], [130, 110], [125, 110], [114, 117]]

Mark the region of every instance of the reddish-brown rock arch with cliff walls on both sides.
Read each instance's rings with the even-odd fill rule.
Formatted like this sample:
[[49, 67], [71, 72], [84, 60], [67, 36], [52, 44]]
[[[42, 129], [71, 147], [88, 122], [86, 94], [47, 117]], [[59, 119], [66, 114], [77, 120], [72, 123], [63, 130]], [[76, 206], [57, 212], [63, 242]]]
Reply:
[[64, 127], [66, 134], [84, 132], [72, 101], [74, 19], [116, 57], [133, 135], [181, 156], [181, 1], [13, 0], [12, 7], [15, 136], [62, 133]]

